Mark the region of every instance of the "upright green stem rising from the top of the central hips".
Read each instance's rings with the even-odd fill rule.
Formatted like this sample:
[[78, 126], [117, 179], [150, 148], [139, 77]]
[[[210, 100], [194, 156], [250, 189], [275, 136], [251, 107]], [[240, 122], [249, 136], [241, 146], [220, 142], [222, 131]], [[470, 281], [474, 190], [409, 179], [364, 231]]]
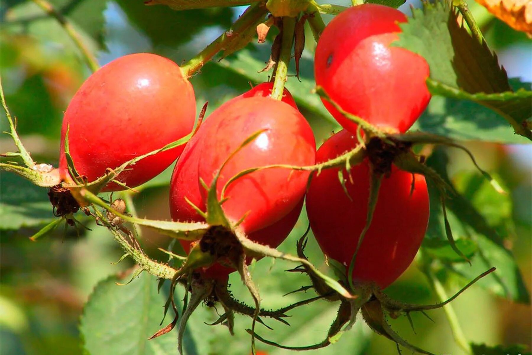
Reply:
[[288, 63], [290, 63], [290, 57], [292, 56], [295, 27], [295, 18], [288, 16], [282, 18], [281, 53], [277, 61], [275, 81], [273, 81], [273, 89], [271, 92], [271, 97], [275, 100], [282, 100], [282, 92], [285, 89], [285, 82], [288, 76]]

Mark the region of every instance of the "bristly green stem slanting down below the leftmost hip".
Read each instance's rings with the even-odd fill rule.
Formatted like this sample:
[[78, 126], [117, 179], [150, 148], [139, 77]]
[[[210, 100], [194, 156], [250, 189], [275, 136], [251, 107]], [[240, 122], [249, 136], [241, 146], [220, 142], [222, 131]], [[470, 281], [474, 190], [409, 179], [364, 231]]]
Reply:
[[130, 255], [130, 257], [135, 261], [135, 263], [147, 271], [149, 274], [152, 274], [159, 278], [172, 279], [172, 277], [177, 273], [177, 270], [155, 260], [152, 260], [146, 255], [142, 250], [137, 249], [131, 243], [128, 242], [126, 237], [124, 237], [118, 230], [114, 229], [113, 226], [107, 221], [102, 212], [98, 211], [97, 208], [94, 209], [98, 219], [111, 231], [113, 234], [114, 240], [117, 241], [122, 249]]

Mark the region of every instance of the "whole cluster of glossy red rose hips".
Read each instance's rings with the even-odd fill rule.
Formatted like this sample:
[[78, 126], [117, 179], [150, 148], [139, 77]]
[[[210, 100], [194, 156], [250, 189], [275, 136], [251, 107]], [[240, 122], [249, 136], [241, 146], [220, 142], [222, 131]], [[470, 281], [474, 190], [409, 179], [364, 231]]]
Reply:
[[[402, 134], [425, 110], [428, 64], [389, 46], [401, 31], [398, 23], [405, 21], [400, 11], [365, 4], [342, 12], [322, 32], [315, 80], [326, 93], [323, 103], [344, 130], [318, 151], [290, 93], [285, 89], [282, 100], [271, 97], [273, 81], [232, 98], [195, 127], [194, 89], [177, 64], [154, 54], [120, 57], [90, 76], [66, 110], [61, 179], [96, 180], [109, 168], [193, 133], [185, 145], [129, 166], [103, 191], [143, 184], [177, 159], [170, 184], [172, 219], [203, 222], [211, 213], [214, 186], [232, 229], [213, 229], [199, 241], [180, 240], [187, 253], [200, 243], [202, 252], [213, 255], [194, 270], [197, 277], [227, 284], [237, 259], [251, 258], [220, 240], [236, 229], [250, 241], [275, 248], [293, 229], [306, 200], [318, 244], [329, 259], [351, 270], [348, 283], [387, 287], [410, 265], [425, 235], [427, 184], [423, 175], [396, 167], [393, 156], [386, 156], [387, 143], [349, 115], [385, 134]], [[360, 146], [367, 155], [358, 164], [320, 166]], [[369, 206], [376, 181], [378, 198]], [[213, 233], [218, 235], [213, 238]], [[344, 318], [343, 324], [350, 317]]]

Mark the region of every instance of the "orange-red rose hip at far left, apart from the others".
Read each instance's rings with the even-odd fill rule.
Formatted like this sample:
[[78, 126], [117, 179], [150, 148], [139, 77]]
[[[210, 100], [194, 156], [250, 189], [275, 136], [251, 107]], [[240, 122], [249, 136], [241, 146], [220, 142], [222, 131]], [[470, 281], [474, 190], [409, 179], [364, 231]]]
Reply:
[[[89, 181], [136, 156], [190, 133], [196, 116], [194, 89], [178, 65], [155, 54], [120, 57], [91, 75], [72, 98], [61, 130], [60, 172], [68, 179], [64, 139], [78, 173]], [[118, 180], [135, 187], [167, 168], [184, 145], [157, 153], [123, 171]], [[110, 183], [105, 191], [123, 187]]]

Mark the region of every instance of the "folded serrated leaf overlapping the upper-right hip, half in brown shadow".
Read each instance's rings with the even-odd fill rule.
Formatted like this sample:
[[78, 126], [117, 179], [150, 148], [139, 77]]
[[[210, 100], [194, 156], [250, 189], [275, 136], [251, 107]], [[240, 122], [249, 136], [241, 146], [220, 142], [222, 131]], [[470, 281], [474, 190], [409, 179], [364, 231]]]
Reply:
[[413, 10], [408, 23], [400, 24], [403, 32], [392, 45], [425, 57], [430, 66], [431, 92], [483, 104], [500, 113], [516, 133], [532, 139], [530, 131], [522, 126], [522, 122], [530, 117], [530, 100], [526, 100], [530, 94], [505, 94], [496, 100], [467, 95], [504, 93], [512, 89], [496, 55], [485, 42], [479, 43], [471, 37], [458, 24], [457, 17], [447, 3], [425, 2], [423, 9]]

